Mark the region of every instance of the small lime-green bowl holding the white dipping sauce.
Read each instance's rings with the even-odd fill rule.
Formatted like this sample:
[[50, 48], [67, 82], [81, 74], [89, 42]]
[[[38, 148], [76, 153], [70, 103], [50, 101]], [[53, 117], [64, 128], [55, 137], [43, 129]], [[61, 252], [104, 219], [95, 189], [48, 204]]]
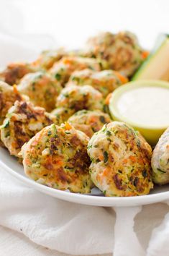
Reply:
[[[157, 141], [159, 140], [160, 136], [163, 134], [165, 129], [169, 127], [169, 116], [168, 116], [168, 125], [162, 126], [160, 124], [157, 125], [147, 125], [144, 124], [144, 121], [140, 123], [139, 121], [133, 121], [131, 118], [127, 118], [124, 116], [124, 114], [120, 113], [117, 105], [119, 102], [119, 99], [124, 95], [124, 93], [127, 93], [129, 90], [134, 90], [136, 88], [165, 88], [169, 90], [169, 82], [164, 82], [161, 80], [140, 80], [140, 81], [134, 81], [134, 82], [128, 82], [125, 85], [120, 86], [111, 95], [110, 101], [109, 101], [109, 111], [114, 119], [114, 121], [123, 121], [124, 123], [129, 124], [134, 129], [141, 132], [142, 136], [145, 137], [147, 142], [150, 143], [150, 145], [155, 146], [157, 144]], [[122, 101], [122, 100], [121, 100]], [[144, 101], [144, 98], [142, 98], [142, 101]], [[168, 98], [169, 101], [169, 98]], [[146, 107], [146, 103], [145, 103]], [[130, 111], [133, 111], [134, 106], [131, 107]], [[152, 115], [155, 115], [155, 110], [152, 112]]]

